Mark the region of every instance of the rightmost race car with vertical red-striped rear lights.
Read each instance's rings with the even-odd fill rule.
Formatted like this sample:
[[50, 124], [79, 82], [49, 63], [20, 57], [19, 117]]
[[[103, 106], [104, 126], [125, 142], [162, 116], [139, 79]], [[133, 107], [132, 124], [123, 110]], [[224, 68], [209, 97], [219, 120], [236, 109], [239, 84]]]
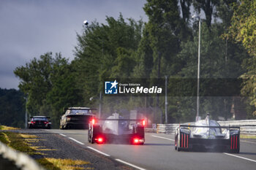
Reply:
[[240, 127], [221, 126], [217, 121], [198, 120], [195, 125], [179, 125], [175, 131], [175, 149], [217, 150], [238, 153], [240, 150]]

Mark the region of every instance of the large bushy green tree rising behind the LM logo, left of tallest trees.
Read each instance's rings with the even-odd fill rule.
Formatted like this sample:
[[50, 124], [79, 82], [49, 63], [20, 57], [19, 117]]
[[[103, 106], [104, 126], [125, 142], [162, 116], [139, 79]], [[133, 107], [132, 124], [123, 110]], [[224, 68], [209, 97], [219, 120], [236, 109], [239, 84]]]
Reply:
[[[90, 104], [89, 98], [98, 96], [107, 78], [129, 78], [138, 61], [135, 51], [142, 36], [143, 22], [132, 19], [106, 18], [107, 24], [96, 21], [87, 26], [83, 34], [78, 34], [75, 47], [75, 60], [72, 61], [83, 100]], [[104, 98], [109, 107], [118, 106], [118, 98]], [[129, 100], [129, 98], [128, 98]], [[103, 106], [103, 109], [105, 107]], [[108, 109], [111, 110], [111, 109]]]

